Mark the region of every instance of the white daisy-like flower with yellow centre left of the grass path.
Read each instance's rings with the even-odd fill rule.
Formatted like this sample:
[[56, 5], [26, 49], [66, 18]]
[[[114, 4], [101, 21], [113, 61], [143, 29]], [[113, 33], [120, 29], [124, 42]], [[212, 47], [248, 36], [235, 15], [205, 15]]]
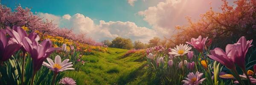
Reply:
[[52, 59], [47, 57], [47, 62], [43, 62], [43, 65], [49, 68], [50, 70], [58, 73], [60, 71], [65, 71], [65, 70], [74, 70], [72, 67], [72, 62], [68, 62], [69, 59], [65, 59], [63, 62], [61, 62], [61, 57], [57, 55], [54, 59], [55, 62], [52, 61]]

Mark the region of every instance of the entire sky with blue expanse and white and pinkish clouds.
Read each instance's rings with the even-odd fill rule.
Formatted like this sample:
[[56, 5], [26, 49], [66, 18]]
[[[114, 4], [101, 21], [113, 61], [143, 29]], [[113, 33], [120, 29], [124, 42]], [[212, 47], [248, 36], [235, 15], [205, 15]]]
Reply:
[[[228, 0], [232, 3], [232, 0]], [[211, 4], [210, 4], [211, 3]], [[14, 9], [19, 4], [40, 17], [54, 20], [58, 27], [86, 32], [96, 41], [115, 37], [148, 42], [170, 37], [175, 26], [196, 21], [210, 7], [220, 11], [221, 0], [1, 0]]]

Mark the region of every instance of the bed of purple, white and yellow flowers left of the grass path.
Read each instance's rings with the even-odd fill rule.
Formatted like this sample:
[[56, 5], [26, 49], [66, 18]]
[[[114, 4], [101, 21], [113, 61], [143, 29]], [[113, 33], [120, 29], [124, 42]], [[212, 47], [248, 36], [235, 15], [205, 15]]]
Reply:
[[25, 26], [0, 29], [1, 85], [76, 84], [63, 77], [62, 71], [79, 70], [86, 62], [83, 55], [108, 52], [100, 46], [29, 31]]

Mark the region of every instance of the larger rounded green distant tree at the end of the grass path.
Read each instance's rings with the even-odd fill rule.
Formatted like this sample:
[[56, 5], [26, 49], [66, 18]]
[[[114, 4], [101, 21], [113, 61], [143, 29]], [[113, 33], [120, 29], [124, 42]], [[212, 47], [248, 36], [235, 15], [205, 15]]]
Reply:
[[132, 49], [132, 41], [131, 39], [125, 39], [122, 37], [116, 37], [114, 40], [112, 40], [111, 47], [113, 48], [122, 48], [122, 49]]

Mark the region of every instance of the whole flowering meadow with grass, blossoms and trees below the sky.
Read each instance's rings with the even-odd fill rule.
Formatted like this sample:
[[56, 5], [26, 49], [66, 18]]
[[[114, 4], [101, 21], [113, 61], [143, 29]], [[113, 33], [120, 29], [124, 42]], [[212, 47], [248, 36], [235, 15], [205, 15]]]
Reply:
[[0, 4], [0, 85], [255, 85], [256, 1], [234, 3], [148, 43], [96, 42]]

